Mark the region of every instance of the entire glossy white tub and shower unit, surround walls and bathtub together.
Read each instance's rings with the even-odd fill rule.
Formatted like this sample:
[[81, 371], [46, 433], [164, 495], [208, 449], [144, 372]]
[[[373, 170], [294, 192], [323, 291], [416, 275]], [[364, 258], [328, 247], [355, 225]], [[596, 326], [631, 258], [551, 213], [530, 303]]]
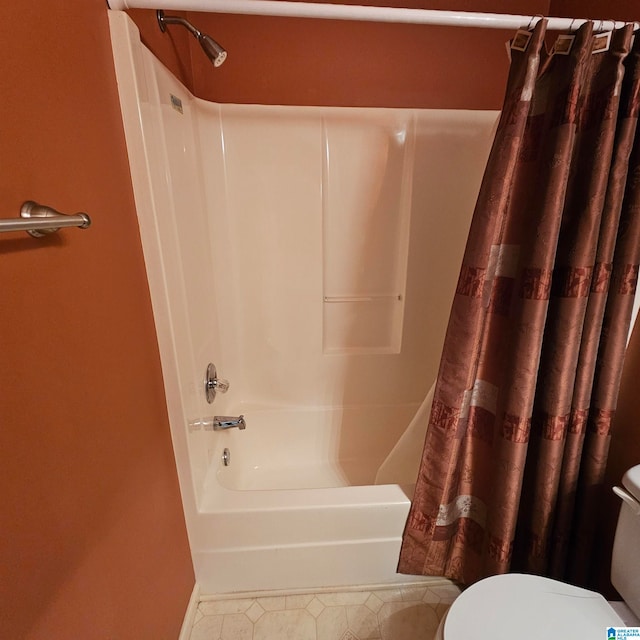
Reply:
[[497, 114], [205, 102], [109, 14], [201, 593], [405, 581], [412, 487], [375, 478], [435, 379]]

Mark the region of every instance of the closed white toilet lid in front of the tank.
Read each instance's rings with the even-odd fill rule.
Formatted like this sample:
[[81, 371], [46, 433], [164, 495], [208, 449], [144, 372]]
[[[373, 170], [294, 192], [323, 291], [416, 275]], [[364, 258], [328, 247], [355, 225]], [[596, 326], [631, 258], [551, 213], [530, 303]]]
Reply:
[[469, 587], [444, 621], [444, 640], [605, 640], [624, 623], [599, 594], [517, 573]]

